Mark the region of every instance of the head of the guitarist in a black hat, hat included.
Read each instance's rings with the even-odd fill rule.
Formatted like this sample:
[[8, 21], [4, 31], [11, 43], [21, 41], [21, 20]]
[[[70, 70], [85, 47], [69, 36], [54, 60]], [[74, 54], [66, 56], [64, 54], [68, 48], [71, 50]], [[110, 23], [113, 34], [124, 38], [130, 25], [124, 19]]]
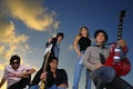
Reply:
[[103, 44], [108, 41], [108, 33], [104, 30], [99, 29], [94, 32], [94, 39], [96, 43]]

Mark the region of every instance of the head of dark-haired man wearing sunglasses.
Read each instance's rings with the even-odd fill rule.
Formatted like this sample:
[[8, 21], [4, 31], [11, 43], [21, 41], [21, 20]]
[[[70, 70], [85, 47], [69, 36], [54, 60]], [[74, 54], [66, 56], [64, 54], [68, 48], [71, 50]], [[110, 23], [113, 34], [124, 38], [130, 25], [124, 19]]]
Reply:
[[17, 55], [12, 56], [10, 58], [10, 65], [14, 70], [18, 69], [20, 66], [20, 57]]

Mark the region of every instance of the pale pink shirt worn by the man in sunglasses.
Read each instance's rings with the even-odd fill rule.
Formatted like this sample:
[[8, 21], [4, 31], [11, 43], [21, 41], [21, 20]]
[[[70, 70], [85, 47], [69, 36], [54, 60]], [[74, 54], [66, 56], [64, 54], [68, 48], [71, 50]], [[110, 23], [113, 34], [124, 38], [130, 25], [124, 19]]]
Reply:
[[8, 87], [22, 79], [22, 78], [12, 77], [13, 76], [12, 73], [22, 73], [22, 72], [30, 70], [30, 69], [31, 69], [31, 67], [27, 67], [23, 65], [20, 65], [17, 70], [14, 70], [11, 66], [7, 66], [4, 68], [3, 78], [8, 80]]

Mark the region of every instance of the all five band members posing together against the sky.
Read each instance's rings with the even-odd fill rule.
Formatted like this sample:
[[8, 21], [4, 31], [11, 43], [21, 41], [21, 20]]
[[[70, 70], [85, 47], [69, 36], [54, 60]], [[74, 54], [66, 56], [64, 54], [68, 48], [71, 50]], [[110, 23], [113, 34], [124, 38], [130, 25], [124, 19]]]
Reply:
[[[49, 44], [53, 44], [53, 47], [48, 59], [47, 70], [43, 71], [44, 60], [32, 81], [30, 81], [31, 75], [35, 70], [20, 65], [19, 56], [12, 56], [10, 65], [4, 69], [0, 88], [6, 80], [8, 80], [7, 89], [23, 89], [25, 86], [30, 86], [29, 89], [40, 89], [40, 81], [44, 82], [44, 89], [69, 88], [66, 71], [58, 68], [60, 42], [63, 38], [63, 33], [59, 32], [55, 38], [50, 38], [48, 40], [45, 48]], [[109, 39], [108, 33], [99, 29], [94, 33], [94, 39], [95, 44], [92, 44], [89, 29], [86, 27], [81, 27], [79, 34], [73, 41], [73, 48], [78, 55], [78, 62], [73, 73], [72, 89], [79, 89], [79, 81], [83, 67], [86, 69], [85, 89], [91, 89], [92, 81], [96, 89], [133, 89], [131, 85], [116, 76], [114, 68], [104, 66], [105, 59], [110, 56], [110, 49], [104, 46]], [[127, 48], [124, 40], [119, 40], [117, 43], [121, 48]]]

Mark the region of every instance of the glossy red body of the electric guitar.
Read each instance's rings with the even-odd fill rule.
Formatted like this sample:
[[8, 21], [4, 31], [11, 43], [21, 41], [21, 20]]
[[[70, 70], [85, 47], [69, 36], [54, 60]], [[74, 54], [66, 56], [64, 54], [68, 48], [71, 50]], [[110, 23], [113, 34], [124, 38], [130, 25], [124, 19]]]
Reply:
[[[125, 76], [131, 70], [131, 62], [129, 61], [126, 57], [124, 57], [124, 59], [120, 59], [120, 61], [115, 61], [114, 60], [114, 57], [116, 56], [114, 51], [115, 48], [116, 48], [116, 44], [113, 44], [111, 47], [111, 50], [110, 50], [111, 53], [105, 60], [104, 65], [108, 67], [113, 67], [116, 71], [116, 76]], [[122, 51], [126, 52], [126, 49], [123, 49]]]

